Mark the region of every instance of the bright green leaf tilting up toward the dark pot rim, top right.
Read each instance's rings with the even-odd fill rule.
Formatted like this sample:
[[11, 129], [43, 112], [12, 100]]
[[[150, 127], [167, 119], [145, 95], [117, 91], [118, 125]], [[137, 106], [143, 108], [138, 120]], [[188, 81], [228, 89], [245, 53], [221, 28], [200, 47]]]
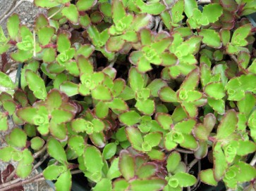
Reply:
[[246, 46], [248, 41], [246, 41], [246, 37], [250, 34], [250, 30], [252, 29], [251, 24], [243, 25], [238, 27], [233, 33], [231, 44], [234, 46]]

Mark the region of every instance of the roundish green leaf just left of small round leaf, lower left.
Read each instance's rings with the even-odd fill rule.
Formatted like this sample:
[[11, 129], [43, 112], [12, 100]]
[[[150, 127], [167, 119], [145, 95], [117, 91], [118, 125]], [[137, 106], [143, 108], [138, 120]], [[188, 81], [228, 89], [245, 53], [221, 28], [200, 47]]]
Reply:
[[27, 143], [27, 134], [19, 129], [15, 128], [8, 135], [8, 144], [13, 147], [23, 148]]

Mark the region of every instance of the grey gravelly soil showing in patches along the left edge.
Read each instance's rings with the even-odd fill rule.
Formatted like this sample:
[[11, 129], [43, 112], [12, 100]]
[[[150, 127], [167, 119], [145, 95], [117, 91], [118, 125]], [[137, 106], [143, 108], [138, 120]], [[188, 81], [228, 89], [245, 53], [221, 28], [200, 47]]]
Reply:
[[[0, 20], [1, 18], [6, 15], [6, 13], [9, 12], [10, 8], [14, 7], [19, 1], [23, 1], [13, 13], [18, 13], [20, 15], [20, 22], [22, 25], [27, 25], [28, 27], [32, 27], [32, 24], [37, 16], [38, 13], [43, 13], [44, 9], [37, 8], [32, 4], [32, 0], [0, 0]], [[6, 33], [6, 20], [1, 22], [1, 27], [4, 29], [4, 32]], [[11, 61], [11, 60], [10, 60]], [[1, 65], [1, 59], [0, 59], [0, 65]], [[17, 70], [18, 63], [12, 62], [12, 68], [11, 71], [8, 73], [10, 77], [15, 81], [16, 77], [16, 70]], [[9, 131], [13, 129], [13, 124], [10, 121], [9, 124]], [[3, 147], [5, 145], [4, 143], [4, 136], [8, 132], [0, 132], [0, 147]], [[13, 166], [16, 166], [16, 163], [12, 163]], [[0, 171], [3, 171], [8, 164], [4, 162], [0, 162]], [[33, 171], [32, 176], [35, 176], [38, 173], [38, 171]], [[47, 184], [46, 181], [42, 181], [39, 183], [31, 183], [28, 185], [24, 185], [25, 191], [35, 190], [35, 191], [53, 191], [51, 187]]]

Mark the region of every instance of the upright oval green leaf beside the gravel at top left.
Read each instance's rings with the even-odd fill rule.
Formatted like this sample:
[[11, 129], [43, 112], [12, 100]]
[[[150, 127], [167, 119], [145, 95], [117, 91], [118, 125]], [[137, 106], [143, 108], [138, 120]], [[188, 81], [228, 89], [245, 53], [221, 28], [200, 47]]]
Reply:
[[17, 14], [13, 14], [8, 18], [6, 27], [11, 39], [13, 39], [14, 41], [17, 41], [18, 32], [20, 28], [20, 18], [18, 17]]

